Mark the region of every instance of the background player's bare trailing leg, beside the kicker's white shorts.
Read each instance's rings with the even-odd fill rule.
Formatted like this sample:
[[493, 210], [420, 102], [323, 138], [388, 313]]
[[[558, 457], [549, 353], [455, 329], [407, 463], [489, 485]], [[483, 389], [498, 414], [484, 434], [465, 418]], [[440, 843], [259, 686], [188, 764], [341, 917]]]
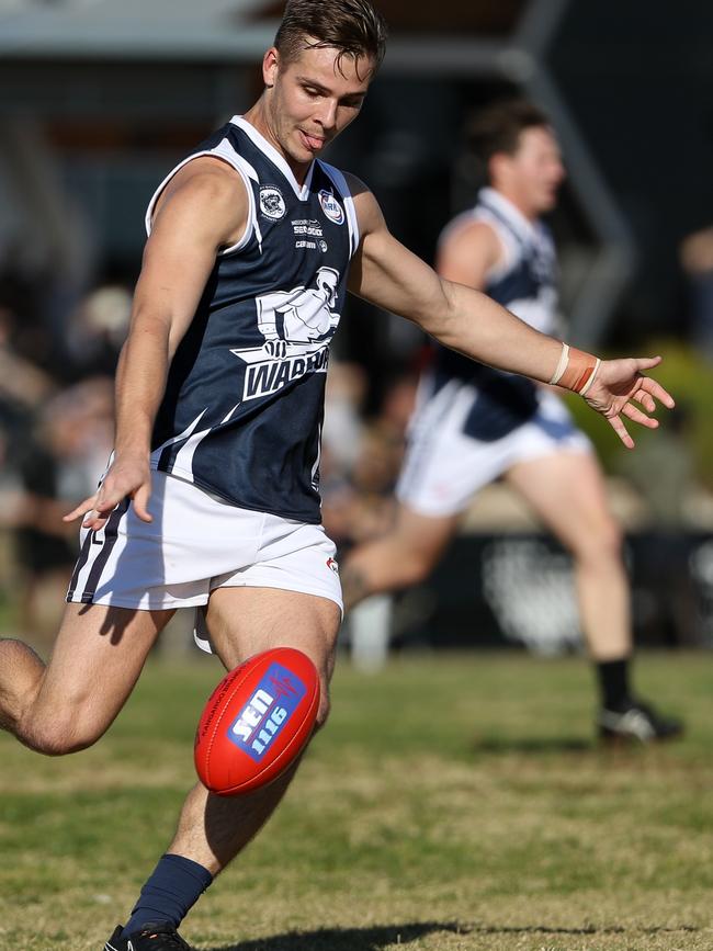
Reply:
[[399, 503], [387, 534], [359, 545], [341, 565], [348, 611], [382, 591], [398, 591], [422, 581], [453, 537], [460, 516], [431, 517]]

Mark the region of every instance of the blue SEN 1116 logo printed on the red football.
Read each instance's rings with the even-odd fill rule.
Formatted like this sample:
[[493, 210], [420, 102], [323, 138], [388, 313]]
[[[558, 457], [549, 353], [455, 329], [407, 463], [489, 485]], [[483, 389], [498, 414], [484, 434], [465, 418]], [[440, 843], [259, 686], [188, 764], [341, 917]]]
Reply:
[[230, 724], [228, 739], [260, 762], [306, 692], [307, 688], [292, 670], [272, 664]]

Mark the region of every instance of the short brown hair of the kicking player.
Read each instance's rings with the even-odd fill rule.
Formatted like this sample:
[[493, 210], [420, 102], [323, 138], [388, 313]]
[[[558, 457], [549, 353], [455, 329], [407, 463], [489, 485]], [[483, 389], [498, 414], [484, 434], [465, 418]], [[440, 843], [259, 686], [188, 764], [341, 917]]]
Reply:
[[331, 46], [339, 50], [340, 68], [344, 56], [366, 56], [375, 72], [384, 58], [386, 32], [386, 21], [369, 0], [287, 0], [274, 45], [287, 61], [303, 49]]

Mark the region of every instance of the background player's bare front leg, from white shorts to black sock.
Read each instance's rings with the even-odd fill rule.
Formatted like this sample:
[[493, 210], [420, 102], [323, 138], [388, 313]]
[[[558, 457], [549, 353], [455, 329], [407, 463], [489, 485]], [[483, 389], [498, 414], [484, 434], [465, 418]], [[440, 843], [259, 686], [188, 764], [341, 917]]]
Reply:
[[506, 479], [571, 552], [580, 622], [592, 659], [627, 657], [631, 611], [621, 533], [595, 457], [553, 453], [518, 463]]

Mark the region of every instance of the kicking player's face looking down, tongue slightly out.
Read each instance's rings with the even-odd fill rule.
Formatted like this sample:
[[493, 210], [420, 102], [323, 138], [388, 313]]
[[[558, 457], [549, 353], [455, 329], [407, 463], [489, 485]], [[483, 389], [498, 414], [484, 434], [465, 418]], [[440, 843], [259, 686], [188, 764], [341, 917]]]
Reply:
[[304, 166], [359, 115], [371, 80], [373, 63], [354, 60], [333, 47], [304, 49], [298, 59], [280, 60], [265, 54], [269, 88], [267, 122], [274, 144], [291, 165]]

